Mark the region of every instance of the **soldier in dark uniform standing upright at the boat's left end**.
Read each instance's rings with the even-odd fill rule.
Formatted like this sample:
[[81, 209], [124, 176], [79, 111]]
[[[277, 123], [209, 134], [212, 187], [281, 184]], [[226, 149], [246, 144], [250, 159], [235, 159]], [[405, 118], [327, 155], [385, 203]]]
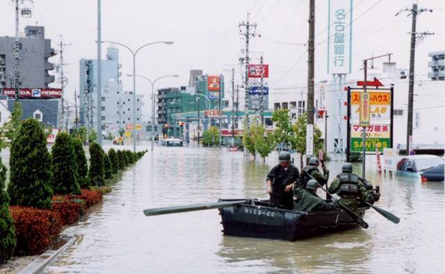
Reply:
[[292, 209], [292, 189], [298, 181], [298, 168], [290, 163], [291, 154], [289, 152], [280, 152], [278, 161], [279, 164], [270, 170], [266, 178], [267, 193], [270, 195], [270, 207]]

